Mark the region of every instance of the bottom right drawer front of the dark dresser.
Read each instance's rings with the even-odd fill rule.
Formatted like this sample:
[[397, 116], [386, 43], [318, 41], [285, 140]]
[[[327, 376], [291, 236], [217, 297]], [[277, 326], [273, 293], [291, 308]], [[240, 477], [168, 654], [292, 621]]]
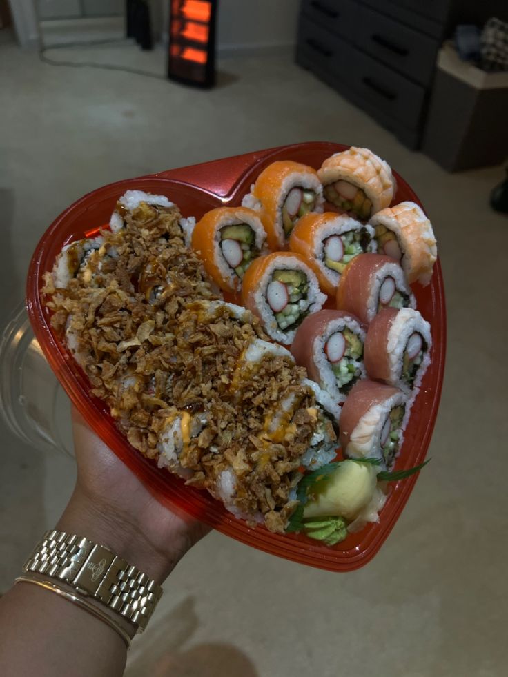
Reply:
[[351, 48], [347, 86], [379, 110], [383, 115], [400, 121], [409, 129], [420, 124], [425, 90], [403, 75]]

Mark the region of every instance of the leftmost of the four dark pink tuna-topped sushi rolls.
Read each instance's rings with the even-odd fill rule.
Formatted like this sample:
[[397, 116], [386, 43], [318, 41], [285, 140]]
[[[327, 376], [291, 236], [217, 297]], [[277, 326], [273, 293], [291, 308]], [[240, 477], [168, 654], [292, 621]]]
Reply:
[[298, 327], [291, 353], [334, 402], [344, 402], [355, 382], [365, 377], [364, 341], [365, 332], [353, 315], [318, 311]]

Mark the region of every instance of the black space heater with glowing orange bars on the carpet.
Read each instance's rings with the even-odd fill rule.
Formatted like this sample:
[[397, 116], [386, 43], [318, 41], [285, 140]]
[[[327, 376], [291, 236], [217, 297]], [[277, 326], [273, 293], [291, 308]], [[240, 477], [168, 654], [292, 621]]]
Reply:
[[215, 67], [215, 10], [217, 2], [173, 0], [169, 30], [168, 77], [189, 84], [211, 86]]

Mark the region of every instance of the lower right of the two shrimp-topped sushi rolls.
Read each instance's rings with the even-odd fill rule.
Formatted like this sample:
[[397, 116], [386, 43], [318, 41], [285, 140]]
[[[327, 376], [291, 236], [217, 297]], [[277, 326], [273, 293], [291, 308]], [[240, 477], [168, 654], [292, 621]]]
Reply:
[[432, 224], [415, 202], [401, 202], [371, 218], [378, 252], [400, 262], [408, 282], [426, 286], [438, 257]]

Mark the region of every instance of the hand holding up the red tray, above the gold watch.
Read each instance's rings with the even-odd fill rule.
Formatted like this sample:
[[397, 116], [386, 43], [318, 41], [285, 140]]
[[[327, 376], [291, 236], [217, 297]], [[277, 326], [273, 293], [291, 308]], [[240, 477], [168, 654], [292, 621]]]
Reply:
[[106, 545], [157, 582], [209, 527], [170, 511], [72, 411], [77, 482], [58, 529]]

